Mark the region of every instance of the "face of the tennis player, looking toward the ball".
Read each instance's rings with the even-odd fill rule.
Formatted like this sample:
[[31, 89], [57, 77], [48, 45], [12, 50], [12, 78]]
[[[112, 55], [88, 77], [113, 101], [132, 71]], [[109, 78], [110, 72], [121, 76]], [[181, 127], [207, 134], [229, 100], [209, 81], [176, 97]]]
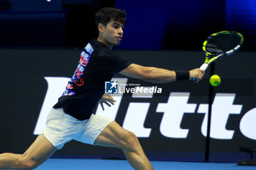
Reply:
[[117, 46], [120, 44], [123, 36], [124, 26], [121, 23], [111, 20], [107, 26], [104, 26], [102, 36], [108, 47]]

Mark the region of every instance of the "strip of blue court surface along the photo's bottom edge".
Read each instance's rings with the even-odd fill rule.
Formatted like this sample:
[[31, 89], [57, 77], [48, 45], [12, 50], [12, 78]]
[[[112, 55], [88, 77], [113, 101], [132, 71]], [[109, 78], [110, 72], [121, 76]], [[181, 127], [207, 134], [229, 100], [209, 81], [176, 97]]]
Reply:
[[[167, 162], [151, 161], [155, 170], [251, 170], [256, 166], [237, 166], [236, 163], [192, 163], [192, 162]], [[99, 160], [99, 159], [57, 159], [51, 158], [45, 161], [37, 170], [64, 170], [64, 169], [89, 169], [89, 170], [132, 170], [127, 161]]]

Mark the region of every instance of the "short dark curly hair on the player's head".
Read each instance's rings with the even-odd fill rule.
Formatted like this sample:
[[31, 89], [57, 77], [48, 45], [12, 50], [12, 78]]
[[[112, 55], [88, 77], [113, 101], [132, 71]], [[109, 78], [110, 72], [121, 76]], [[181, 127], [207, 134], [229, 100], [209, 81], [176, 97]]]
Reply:
[[124, 25], [127, 21], [125, 18], [126, 14], [127, 13], [125, 12], [125, 10], [120, 10], [113, 7], [105, 7], [99, 9], [99, 11], [95, 15], [96, 26], [98, 26], [99, 23], [107, 26], [111, 19]]

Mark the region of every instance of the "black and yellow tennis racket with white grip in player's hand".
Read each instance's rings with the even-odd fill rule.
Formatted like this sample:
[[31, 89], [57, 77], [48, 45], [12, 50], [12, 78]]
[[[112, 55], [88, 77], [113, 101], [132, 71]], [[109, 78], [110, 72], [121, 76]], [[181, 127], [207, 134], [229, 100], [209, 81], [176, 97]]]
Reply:
[[[220, 31], [208, 36], [203, 42], [203, 51], [206, 53], [206, 61], [200, 69], [206, 70], [208, 66], [219, 58], [235, 53], [244, 42], [244, 36], [236, 31]], [[197, 82], [197, 78], [192, 79]]]

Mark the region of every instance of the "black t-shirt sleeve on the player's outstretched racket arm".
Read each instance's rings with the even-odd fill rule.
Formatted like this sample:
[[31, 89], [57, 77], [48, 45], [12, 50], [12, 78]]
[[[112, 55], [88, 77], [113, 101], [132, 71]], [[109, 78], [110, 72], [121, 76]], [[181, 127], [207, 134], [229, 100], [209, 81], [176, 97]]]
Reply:
[[118, 73], [127, 68], [131, 62], [129, 62], [127, 58], [124, 57], [124, 55], [112, 52], [108, 55], [105, 55], [103, 64], [105, 72]]

